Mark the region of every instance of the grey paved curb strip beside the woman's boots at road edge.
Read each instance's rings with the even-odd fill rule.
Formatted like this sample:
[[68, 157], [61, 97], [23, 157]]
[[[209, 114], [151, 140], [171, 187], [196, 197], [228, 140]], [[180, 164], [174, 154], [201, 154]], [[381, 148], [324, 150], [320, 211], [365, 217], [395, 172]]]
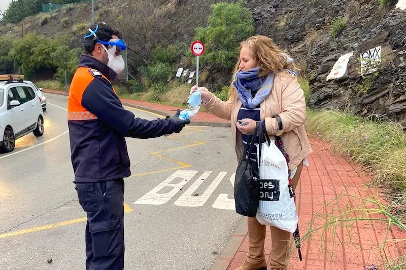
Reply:
[[235, 229], [234, 234], [231, 236], [230, 242], [224, 248], [223, 252], [218, 256], [210, 270], [226, 270], [235, 253], [238, 251], [241, 243], [248, 233], [247, 218], [245, 217], [238, 227]]

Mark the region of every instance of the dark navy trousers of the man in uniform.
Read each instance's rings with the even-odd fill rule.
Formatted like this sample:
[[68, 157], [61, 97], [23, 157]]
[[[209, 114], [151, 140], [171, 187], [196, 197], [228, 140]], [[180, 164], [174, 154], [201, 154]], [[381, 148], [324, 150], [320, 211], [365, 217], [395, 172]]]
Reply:
[[75, 182], [87, 213], [86, 270], [124, 269], [124, 180]]

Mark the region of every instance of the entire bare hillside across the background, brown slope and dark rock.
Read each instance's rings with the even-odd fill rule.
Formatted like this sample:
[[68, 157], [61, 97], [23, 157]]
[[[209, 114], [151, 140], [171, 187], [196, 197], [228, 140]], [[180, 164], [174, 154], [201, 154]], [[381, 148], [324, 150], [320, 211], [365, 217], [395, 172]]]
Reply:
[[[189, 44], [195, 27], [207, 24], [210, 6], [217, 2], [99, 0], [95, 2], [95, 19], [122, 29], [130, 53], [137, 54], [132, 61], [147, 62], [159, 44]], [[296, 59], [301, 75], [310, 82], [311, 107], [352, 109], [366, 117], [397, 120], [405, 127], [406, 10], [396, 9], [396, 4], [397, 0], [245, 1], [256, 33], [272, 37]], [[90, 7], [86, 3], [41, 13], [18, 25], [0, 26], [0, 34], [68, 34], [73, 37], [72, 47], [78, 47], [91, 22]], [[353, 56], [345, 74], [327, 81], [334, 63], [348, 53]], [[377, 60], [374, 72], [361, 75], [361, 54]], [[184, 64], [181, 59], [179, 64]], [[208, 83], [229, 82], [229, 70], [210, 72], [210, 68], [202, 66], [209, 71]]]

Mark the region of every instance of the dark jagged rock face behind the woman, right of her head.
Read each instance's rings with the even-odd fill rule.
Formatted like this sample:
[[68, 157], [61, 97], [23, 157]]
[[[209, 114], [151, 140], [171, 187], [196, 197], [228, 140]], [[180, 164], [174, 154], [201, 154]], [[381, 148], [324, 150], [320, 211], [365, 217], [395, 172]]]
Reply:
[[[406, 126], [406, 10], [378, 0], [247, 1], [257, 33], [268, 35], [306, 69], [310, 106], [351, 108]], [[382, 4], [381, 4], [382, 3]], [[346, 20], [332, 36], [334, 18]], [[333, 24], [333, 26], [335, 26]], [[381, 46], [378, 71], [360, 75], [360, 54]], [[341, 55], [353, 52], [347, 72], [326, 81]]]

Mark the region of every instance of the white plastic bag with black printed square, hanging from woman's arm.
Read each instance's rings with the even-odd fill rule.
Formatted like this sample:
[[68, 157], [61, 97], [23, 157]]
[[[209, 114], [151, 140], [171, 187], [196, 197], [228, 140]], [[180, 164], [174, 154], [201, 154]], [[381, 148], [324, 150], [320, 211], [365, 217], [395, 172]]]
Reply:
[[[259, 147], [257, 150], [259, 157]], [[299, 221], [293, 190], [289, 186], [288, 164], [282, 152], [271, 140], [269, 146], [262, 143], [259, 164], [260, 198], [256, 218], [262, 225], [294, 233]]]

